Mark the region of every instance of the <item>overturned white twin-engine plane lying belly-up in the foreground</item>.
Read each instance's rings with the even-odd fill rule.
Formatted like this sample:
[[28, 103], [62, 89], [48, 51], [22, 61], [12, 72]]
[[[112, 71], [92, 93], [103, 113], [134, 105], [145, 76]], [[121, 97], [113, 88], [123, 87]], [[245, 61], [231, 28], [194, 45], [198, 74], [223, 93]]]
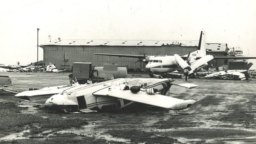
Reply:
[[[68, 113], [91, 112], [94, 110], [122, 109], [133, 103], [144, 103], [174, 111], [186, 109], [193, 105], [194, 100], [181, 100], [165, 96], [171, 85], [189, 89], [198, 87], [190, 83], [179, 83], [173, 79], [154, 78], [120, 78], [90, 85], [67, 87], [62, 92], [51, 96], [45, 107], [63, 110]], [[31, 91], [33, 93], [33, 91]], [[33, 96], [30, 91], [17, 94], [17, 98]], [[54, 93], [53, 90], [37, 90], [34, 96]]]

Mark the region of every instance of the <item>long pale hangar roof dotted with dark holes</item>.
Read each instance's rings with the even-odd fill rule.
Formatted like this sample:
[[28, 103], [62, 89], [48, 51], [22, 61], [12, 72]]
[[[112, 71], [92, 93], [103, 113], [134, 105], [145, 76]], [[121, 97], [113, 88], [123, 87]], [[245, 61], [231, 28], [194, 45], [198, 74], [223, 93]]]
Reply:
[[198, 46], [198, 41], [171, 41], [171, 40], [85, 40], [85, 39], [58, 39], [46, 42], [46, 45], [58, 46]]

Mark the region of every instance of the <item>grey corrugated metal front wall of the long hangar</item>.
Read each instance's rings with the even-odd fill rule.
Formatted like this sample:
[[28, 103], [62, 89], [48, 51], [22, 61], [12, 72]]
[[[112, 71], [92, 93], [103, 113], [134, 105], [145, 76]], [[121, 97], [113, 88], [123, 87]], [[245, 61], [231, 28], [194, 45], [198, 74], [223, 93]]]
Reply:
[[71, 71], [72, 63], [87, 62], [92, 65], [103, 66], [105, 63], [116, 63], [119, 66], [128, 66], [128, 68], [144, 69], [143, 62], [135, 62], [136, 58], [109, 57], [94, 55], [95, 53], [106, 54], [132, 54], [132, 55], [186, 55], [188, 52], [197, 50], [196, 46], [44, 46], [45, 65], [53, 63], [59, 69]]

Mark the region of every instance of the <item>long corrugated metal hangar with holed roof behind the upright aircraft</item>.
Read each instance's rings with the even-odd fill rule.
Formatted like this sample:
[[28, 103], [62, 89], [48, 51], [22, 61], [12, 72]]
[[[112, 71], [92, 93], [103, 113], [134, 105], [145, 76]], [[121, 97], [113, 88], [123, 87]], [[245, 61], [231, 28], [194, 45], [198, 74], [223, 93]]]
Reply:
[[[206, 44], [208, 45], [208, 44]], [[216, 45], [216, 44], [209, 44]], [[226, 49], [216, 50], [208, 47], [208, 53], [221, 53], [223, 55]], [[53, 63], [59, 69], [72, 70], [74, 62], [88, 62], [92, 65], [103, 66], [105, 63], [115, 63], [119, 66], [125, 66], [129, 69], [144, 69], [145, 64], [137, 61], [136, 58], [109, 57], [94, 55], [95, 53], [106, 54], [129, 54], [129, 55], [186, 55], [189, 52], [197, 50], [198, 41], [158, 41], [158, 40], [68, 40], [58, 39], [56, 41], [45, 43], [43, 47], [43, 61], [45, 65]], [[225, 47], [225, 46], [224, 46]], [[226, 47], [227, 48], [227, 45]], [[215, 61], [215, 65], [221, 65]], [[222, 64], [223, 65], [223, 64]], [[222, 66], [221, 65], [221, 66]]]

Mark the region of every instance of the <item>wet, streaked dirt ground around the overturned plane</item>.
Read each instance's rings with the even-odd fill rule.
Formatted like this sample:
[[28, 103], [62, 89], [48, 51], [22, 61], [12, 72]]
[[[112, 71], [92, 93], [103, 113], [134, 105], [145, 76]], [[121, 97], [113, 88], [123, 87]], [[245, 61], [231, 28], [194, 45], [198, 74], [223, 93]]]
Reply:
[[[15, 84], [6, 88], [8, 90], [24, 91], [29, 88], [40, 89], [69, 84], [69, 73], [31, 74], [33, 75], [0, 72], [0, 75], [10, 76]], [[145, 73], [128, 75], [130, 78], [148, 77]], [[185, 79], [177, 80], [186, 82]], [[170, 92], [167, 93], [167, 96], [197, 101], [182, 111], [137, 105], [135, 108], [114, 112], [55, 114], [49, 112], [48, 109], [33, 107], [38, 103], [43, 104], [46, 100], [44, 97], [26, 101], [14, 98], [13, 94], [0, 92], [0, 102], [2, 102], [0, 105], [14, 102], [17, 107], [26, 107], [26, 109], [20, 110], [20, 113], [41, 116], [42, 119], [52, 116], [62, 119], [75, 117], [77, 120], [86, 120], [88, 123], [81, 122], [80, 126], [72, 127], [61, 126], [58, 129], [38, 126], [36, 129], [42, 127], [43, 130], [36, 133], [37, 137], [30, 137], [33, 134], [29, 131], [32, 130], [24, 125], [13, 133], [2, 132], [0, 141], [11, 140], [11, 142], [19, 143], [20, 139], [29, 139], [30, 142], [42, 142], [58, 134], [72, 133], [74, 134], [72, 138], [76, 140], [83, 140], [82, 135], [94, 138], [94, 140], [102, 140], [98, 143], [248, 144], [256, 142], [256, 79], [247, 82], [200, 78], [188, 79], [187, 82], [198, 85], [198, 88], [186, 89], [172, 86]], [[32, 122], [32, 124], [34, 123]], [[24, 136], [24, 133], [27, 135]], [[61, 135], [60, 137], [67, 136]], [[56, 136], [56, 138], [59, 137]]]

